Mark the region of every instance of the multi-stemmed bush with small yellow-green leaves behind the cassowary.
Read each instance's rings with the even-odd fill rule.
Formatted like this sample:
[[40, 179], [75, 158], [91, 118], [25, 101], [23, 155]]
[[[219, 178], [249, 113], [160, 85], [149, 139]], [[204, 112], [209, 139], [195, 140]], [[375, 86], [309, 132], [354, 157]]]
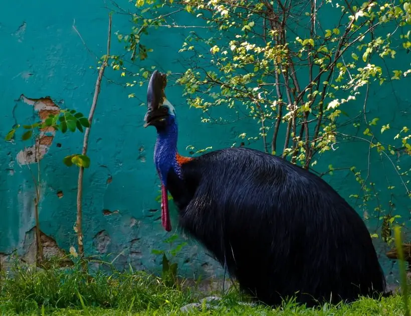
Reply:
[[[411, 154], [411, 134], [407, 126], [397, 129], [387, 118], [371, 116], [375, 110], [370, 114], [367, 102], [370, 90], [393, 89], [395, 81], [409, 78], [409, 64], [396, 61], [402, 61], [411, 48], [408, 0], [138, 0], [135, 4], [139, 13], [133, 14], [132, 34], [140, 34], [136, 30], [150, 23], [185, 31], [179, 53], [187, 68], [177, 83], [184, 87], [189, 106], [203, 113], [203, 123], [253, 120], [256, 131], [241, 132], [233, 146], [258, 142], [262, 150], [313, 172], [326, 155], [331, 164], [319, 175], [349, 171], [360, 186], [360, 192], [350, 197], [365, 219], [374, 218], [376, 229], [380, 226], [381, 232], [372, 236], [392, 241], [392, 224], [400, 219], [393, 197], [411, 197], [411, 169], [405, 158], [401, 165], [401, 157]], [[133, 47], [126, 50], [133, 52]], [[122, 76], [141, 78], [129, 82], [129, 87], [142, 85], [149, 73], [145, 68], [132, 73], [118, 59], [113, 68]], [[232, 114], [219, 116], [219, 107]], [[344, 143], [366, 146], [366, 171], [354, 161], [351, 166], [334, 167]], [[371, 155], [391, 166], [386, 174], [393, 172], [401, 187], [388, 180], [381, 187], [370, 180]], [[380, 201], [382, 190], [388, 190], [389, 201]]]

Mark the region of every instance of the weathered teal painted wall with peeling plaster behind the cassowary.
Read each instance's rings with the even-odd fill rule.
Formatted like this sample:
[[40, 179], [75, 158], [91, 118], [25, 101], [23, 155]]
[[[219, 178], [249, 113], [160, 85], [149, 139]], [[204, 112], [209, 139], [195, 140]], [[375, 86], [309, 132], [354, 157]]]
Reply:
[[[124, 7], [127, 6], [134, 10], [124, 1]], [[50, 105], [88, 113], [97, 77], [90, 66], [95, 66], [95, 56], [106, 53], [107, 21], [107, 9], [100, 0], [88, 1], [87, 6], [80, 0], [3, 5], [0, 11], [2, 139], [15, 122], [34, 122], [40, 110], [50, 109], [47, 107]], [[86, 46], [73, 29], [74, 23]], [[113, 32], [126, 33], [130, 26], [127, 16], [114, 15]], [[150, 35], [149, 46], [154, 51], [144, 65], [182, 72], [178, 49], [185, 36], [180, 29], [164, 32], [162, 29]], [[122, 52], [122, 44], [113, 41], [112, 52]], [[116, 257], [119, 268], [131, 264], [135, 268], [156, 270], [160, 268], [160, 260], [151, 250], [167, 249], [162, 241], [169, 234], [158, 220], [159, 204], [155, 201], [159, 194], [159, 181], [152, 162], [155, 131], [142, 128], [145, 108], [139, 104], [145, 101], [146, 86], [130, 90], [121, 85], [125, 82], [125, 79], [121, 82], [117, 73], [108, 70], [102, 83], [89, 145], [92, 165], [86, 170], [84, 179], [84, 244], [89, 255], [110, 255], [110, 260]], [[405, 83], [393, 84], [394, 91], [405, 88]], [[392, 128], [400, 129], [411, 118], [410, 97], [397, 93], [393, 98], [392, 89], [372, 87], [369, 104], [373, 105], [369, 111], [387, 118]], [[129, 99], [129, 93], [137, 97]], [[50, 96], [55, 105], [47, 100], [34, 105], [30, 100], [46, 96]], [[228, 147], [241, 132], [258, 128], [252, 122], [223, 126], [201, 124], [201, 113], [185, 106], [179, 87], [169, 87], [167, 96], [177, 109], [182, 154], [187, 154], [185, 147], [190, 144], [197, 148]], [[45, 144], [47, 153], [41, 161], [40, 221], [41, 230], [49, 236], [50, 251], [56, 251], [53, 241], [66, 251], [76, 244], [73, 225], [78, 171], [65, 167], [62, 160], [69, 153], [80, 152], [82, 137], [79, 132], [56, 133]], [[3, 142], [0, 146], [0, 205], [3, 206], [0, 252], [3, 254], [16, 249], [21, 255], [33, 251], [35, 220], [31, 171], [36, 170], [34, 165], [29, 165], [30, 171], [23, 164], [24, 160], [19, 159], [25, 144]], [[340, 144], [334, 167], [355, 164], [364, 169], [367, 153], [368, 148], [363, 144]], [[329, 165], [329, 157], [325, 155], [321, 159], [320, 170]], [[371, 155], [370, 159], [376, 166], [371, 170], [370, 179], [385, 181], [381, 179], [380, 170], [389, 169], [389, 166], [382, 167], [378, 155]], [[387, 173], [392, 176], [392, 171]], [[357, 186], [349, 172], [336, 173], [326, 180], [347, 199], [352, 188]], [[400, 186], [398, 181], [392, 185]], [[385, 201], [389, 196], [381, 192], [380, 198]], [[408, 217], [408, 208], [409, 200], [398, 196], [397, 209], [405, 217]], [[175, 211], [172, 213], [175, 228]], [[388, 273], [391, 262], [384, 258], [385, 248], [378, 246], [378, 251]], [[179, 264], [186, 276], [221, 273], [219, 264], [193, 241], [189, 241], [179, 254]]]

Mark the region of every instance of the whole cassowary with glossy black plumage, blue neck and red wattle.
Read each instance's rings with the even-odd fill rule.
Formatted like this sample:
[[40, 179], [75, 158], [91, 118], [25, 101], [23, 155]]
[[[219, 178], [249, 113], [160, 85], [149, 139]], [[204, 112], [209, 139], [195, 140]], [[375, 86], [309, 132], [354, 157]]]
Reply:
[[382, 294], [385, 278], [370, 234], [324, 180], [285, 159], [248, 148], [183, 157], [166, 76], [151, 75], [144, 127], [157, 129], [154, 163], [161, 218], [171, 230], [167, 191], [183, 232], [203, 244], [257, 300], [295, 297], [312, 306]]

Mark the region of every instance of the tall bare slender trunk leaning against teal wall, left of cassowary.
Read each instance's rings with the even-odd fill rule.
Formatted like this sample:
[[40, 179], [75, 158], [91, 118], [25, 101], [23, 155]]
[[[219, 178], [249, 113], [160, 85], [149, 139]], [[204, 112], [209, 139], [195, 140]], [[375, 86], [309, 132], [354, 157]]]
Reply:
[[[109, 22], [108, 22], [107, 55], [105, 56], [104, 62], [100, 67], [97, 82], [96, 82], [96, 87], [94, 89], [93, 103], [91, 105], [90, 113], [88, 117], [90, 126], [86, 128], [85, 133], [84, 133], [83, 151], [82, 151], [83, 155], [87, 154], [91, 124], [93, 121], [94, 112], [96, 110], [96, 105], [97, 105], [97, 100], [98, 100], [98, 96], [100, 93], [100, 86], [101, 86], [101, 80], [104, 74], [104, 69], [107, 67], [108, 58], [110, 56], [110, 45], [111, 45], [111, 14], [109, 14]], [[84, 167], [80, 167], [79, 178], [78, 178], [78, 183], [77, 183], [77, 220], [76, 220], [77, 242], [78, 242], [78, 247], [79, 247], [80, 258], [84, 257], [83, 230], [81, 226], [82, 218], [83, 218], [83, 210], [82, 210], [83, 175], [84, 175]]]

